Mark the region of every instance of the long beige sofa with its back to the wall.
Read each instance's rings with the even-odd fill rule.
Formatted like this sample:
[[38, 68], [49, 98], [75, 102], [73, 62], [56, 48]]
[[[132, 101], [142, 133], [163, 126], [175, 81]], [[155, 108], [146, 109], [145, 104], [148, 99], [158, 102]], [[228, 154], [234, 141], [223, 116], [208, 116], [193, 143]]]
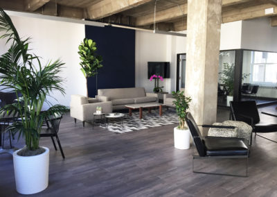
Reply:
[[157, 102], [157, 94], [146, 93], [144, 87], [98, 89], [97, 98], [101, 102], [111, 101], [113, 110], [125, 109], [133, 103]]

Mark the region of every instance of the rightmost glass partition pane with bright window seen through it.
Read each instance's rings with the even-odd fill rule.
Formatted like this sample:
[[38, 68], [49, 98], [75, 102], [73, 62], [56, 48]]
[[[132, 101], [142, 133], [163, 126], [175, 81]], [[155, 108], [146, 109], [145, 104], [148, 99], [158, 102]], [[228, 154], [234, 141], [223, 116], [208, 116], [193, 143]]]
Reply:
[[242, 101], [276, 101], [277, 53], [244, 50], [242, 79]]

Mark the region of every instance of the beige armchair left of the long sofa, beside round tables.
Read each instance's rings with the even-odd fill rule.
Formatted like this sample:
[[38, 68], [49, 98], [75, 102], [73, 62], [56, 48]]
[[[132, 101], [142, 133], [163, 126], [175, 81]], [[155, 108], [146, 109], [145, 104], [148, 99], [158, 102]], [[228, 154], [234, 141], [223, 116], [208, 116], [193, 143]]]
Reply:
[[112, 112], [111, 101], [99, 103], [98, 99], [87, 99], [86, 96], [78, 94], [71, 95], [70, 116], [73, 117], [75, 123], [78, 119], [84, 126], [85, 121], [92, 121], [96, 107], [101, 107], [103, 113]]

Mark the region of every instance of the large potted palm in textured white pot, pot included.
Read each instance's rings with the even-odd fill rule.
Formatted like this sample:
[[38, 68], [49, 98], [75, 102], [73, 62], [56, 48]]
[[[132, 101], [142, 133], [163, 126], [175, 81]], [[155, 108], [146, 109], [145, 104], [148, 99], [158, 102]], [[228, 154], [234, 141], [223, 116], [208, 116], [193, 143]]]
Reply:
[[[20, 194], [35, 194], [48, 187], [49, 149], [39, 146], [39, 133], [45, 118], [68, 109], [53, 105], [42, 111], [46, 96], [56, 90], [64, 93], [60, 60], [45, 67], [36, 55], [29, 53], [29, 38], [21, 40], [10, 17], [0, 8], [0, 38], [10, 44], [0, 57], [1, 89], [17, 94], [17, 102], [3, 106], [0, 113], [17, 117], [8, 130], [23, 136], [26, 146], [13, 153], [15, 183]], [[19, 93], [22, 95], [19, 97]]]

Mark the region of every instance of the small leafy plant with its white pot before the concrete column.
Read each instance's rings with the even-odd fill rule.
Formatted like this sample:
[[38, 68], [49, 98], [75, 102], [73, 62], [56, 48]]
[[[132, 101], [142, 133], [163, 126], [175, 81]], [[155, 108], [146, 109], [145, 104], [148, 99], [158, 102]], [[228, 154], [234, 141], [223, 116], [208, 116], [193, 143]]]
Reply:
[[173, 104], [176, 105], [176, 112], [179, 117], [179, 126], [174, 128], [174, 144], [175, 148], [178, 149], [188, 149], [190, 148], [190, 131], [185, 126], [186, 121], [186, 111], [190, 105], [190, 97], [185, 96], [184, 92], [172, 92]]

